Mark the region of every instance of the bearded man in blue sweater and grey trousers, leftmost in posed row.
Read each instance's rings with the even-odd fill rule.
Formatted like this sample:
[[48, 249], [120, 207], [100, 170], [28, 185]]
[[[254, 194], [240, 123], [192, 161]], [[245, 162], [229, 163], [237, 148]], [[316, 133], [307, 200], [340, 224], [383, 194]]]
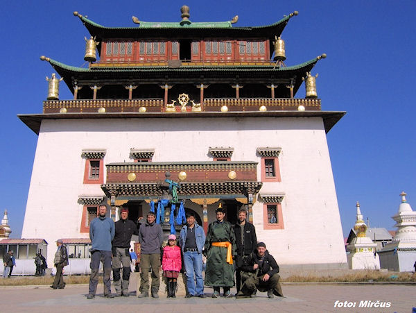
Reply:
[[91, 239], [91, 276], [89, 276], [89, 290], [87, 299], [95, 297], [98, 285], [98, 270], [100, 269], [100, 261], [103, 262], [104, 269], [104, 296], [107, 298], [114, 298], [111, 293], [111, 242], [114, 239], [115, 228], [114, 221], [107, 214], [107, 206], [100, 205], [98, 208], [98, 217], [92, 220], [89, 225], [89, 239]]

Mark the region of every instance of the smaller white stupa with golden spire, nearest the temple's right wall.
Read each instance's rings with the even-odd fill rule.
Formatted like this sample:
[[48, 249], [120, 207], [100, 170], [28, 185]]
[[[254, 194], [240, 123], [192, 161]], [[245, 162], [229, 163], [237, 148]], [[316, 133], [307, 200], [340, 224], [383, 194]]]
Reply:
[[357, 216], [354, 225], [356, 237], [347, 246], [349, 250], [348, 267], [349, 269], [380, 269], [379, 255], [376, 253], [376, 246], [372, 239], [365, 236], [367, 225], [361, 214], [360, 203], [356, 204]]

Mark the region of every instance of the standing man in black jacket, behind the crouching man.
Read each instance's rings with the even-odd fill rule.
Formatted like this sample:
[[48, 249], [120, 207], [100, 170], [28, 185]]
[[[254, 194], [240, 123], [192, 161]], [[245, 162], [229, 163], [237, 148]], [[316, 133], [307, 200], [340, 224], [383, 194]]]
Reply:
[[247, 221], [247, 211], [244, 209], [239, 210], [237, 213], [237, 223], [234, 225], [234, 233], [236, 234], [236, 288], [237, 292], [241, 287], [241, 267], [245, 259], [247, 259], [250, 253], [256, 251], [257, 236], [256, 228], [252, 223]]

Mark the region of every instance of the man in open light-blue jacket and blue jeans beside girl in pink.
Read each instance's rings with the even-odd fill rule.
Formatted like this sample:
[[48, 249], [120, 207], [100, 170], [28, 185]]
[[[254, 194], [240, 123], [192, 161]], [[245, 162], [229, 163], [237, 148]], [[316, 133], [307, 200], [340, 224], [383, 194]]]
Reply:
[[[195, 214], [187, 217], [187, 225], [180, 230], [180, 247], [184, 254], [185, 272], [187, 274], [187, 296], [205, 298], [204, 280], [202, 280], [202, 248], [205, 244], [205, 232], [195, 222]], [[195, 285], [196, 280], [196, 285]]]

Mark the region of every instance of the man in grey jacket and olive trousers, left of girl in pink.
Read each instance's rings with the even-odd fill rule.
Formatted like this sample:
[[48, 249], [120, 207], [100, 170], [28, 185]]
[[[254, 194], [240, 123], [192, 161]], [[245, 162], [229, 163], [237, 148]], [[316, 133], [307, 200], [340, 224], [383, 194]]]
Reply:
[[149, 271], [152, 267], [152, 287], [153, 298], [159, 298], [159, 267], [160, 267], [160, 248], [163, 241], [162, 227], [155, 223], [156, 215], [148, 212], [146, 224], [139, 228], [140, 242], [140, 291], [139, 298], [149, 296]]

